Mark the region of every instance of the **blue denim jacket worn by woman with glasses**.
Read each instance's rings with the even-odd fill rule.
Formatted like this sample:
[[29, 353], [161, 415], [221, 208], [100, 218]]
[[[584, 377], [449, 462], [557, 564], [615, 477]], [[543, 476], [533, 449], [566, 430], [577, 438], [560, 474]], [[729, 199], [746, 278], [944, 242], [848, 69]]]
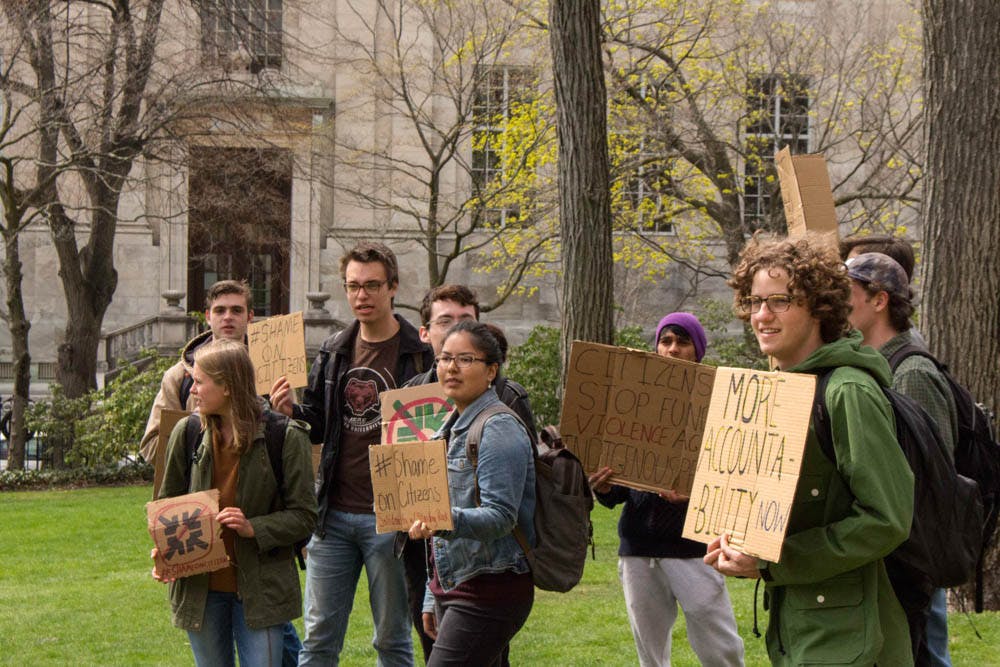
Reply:
[[[490, 387], [462, 414], [452, 412], [435, 435], [443, 438], [450, 431], [448, 492], [454, 526], [438, 531], [431, 540], [438, 580], [446, 591], [480, 574], [529, 571], [528, 559], [513, 535], [516, 522], [528, 543], [535, 543], [535, 464], [527, 433], [511, 415], [496, 415], [483, 429], [475, 470], [465, 451], [476, 415], [499, 402]], [[473, 475], [479, 480], [478, 505]], [[424, 611], [433, 606], [428, 588]]]

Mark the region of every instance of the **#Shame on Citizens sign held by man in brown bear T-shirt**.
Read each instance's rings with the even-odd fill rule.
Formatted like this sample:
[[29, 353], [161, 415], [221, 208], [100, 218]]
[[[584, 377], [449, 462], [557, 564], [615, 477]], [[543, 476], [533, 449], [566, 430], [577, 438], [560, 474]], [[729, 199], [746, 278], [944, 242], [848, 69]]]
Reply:
[[250, 359], [257, 375], [257, 393], [269, 393], [284, 375], [292, 389], [308, 383], [306, 337], [302, 312], [275, 315], [247, 327]]

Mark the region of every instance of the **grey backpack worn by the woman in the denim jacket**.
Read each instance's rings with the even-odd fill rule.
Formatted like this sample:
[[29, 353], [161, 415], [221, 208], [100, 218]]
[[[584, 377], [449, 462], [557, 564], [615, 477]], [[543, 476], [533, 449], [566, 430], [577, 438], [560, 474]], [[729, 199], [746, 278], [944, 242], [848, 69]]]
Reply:
[[[479, 458], [479, 442], [486, 421], [503, 413], [517, 417], [517, 413], [500, 403], [483, 410], [469, 426], [465, 448], [473, 467]], [[521, 422], [520, 417], [517, 420]], [[546, 428], [543, 444], [532, 447], [535, 460], [535, 546], [532, 548], [528, 544], [523, 531], [516, 526], [514, 537], [528, 557], [535, 586], [545, 591], [565, 593], [580, 583], [587, 560], [587, 547], [593, 548], [594, 527], [590, 523], [590, 511], [594, 508], [594, 496], [580, 459], [562, 447], [558, 436], [553, 436], [553, 430]], [[546, 438], [555, 446], [547, 446]], [[542, 448], [544, 451], [540, 451]], [[478, 483], [476, 500], [479, 500]]]

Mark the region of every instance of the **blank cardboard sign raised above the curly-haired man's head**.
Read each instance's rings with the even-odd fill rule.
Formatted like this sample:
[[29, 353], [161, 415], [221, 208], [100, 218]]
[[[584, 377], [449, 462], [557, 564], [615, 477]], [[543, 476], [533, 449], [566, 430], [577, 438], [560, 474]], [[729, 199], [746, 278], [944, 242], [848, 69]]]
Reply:
[[830, 175], [822, 155], [792, 155], [785, 146], [775, 156], [781, 200], [789, 238], [806, 232], [828, 235], [837, 243], [837, 212], [833, 205]]

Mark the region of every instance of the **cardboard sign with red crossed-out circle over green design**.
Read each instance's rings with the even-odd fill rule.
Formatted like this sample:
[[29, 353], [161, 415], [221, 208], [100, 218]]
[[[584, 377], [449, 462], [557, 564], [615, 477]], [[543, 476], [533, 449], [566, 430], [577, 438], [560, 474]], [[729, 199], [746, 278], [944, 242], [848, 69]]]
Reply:
[[383, 391], [382, 442], [427, 442], [444, 426], [455, 404], [438, 382]]

